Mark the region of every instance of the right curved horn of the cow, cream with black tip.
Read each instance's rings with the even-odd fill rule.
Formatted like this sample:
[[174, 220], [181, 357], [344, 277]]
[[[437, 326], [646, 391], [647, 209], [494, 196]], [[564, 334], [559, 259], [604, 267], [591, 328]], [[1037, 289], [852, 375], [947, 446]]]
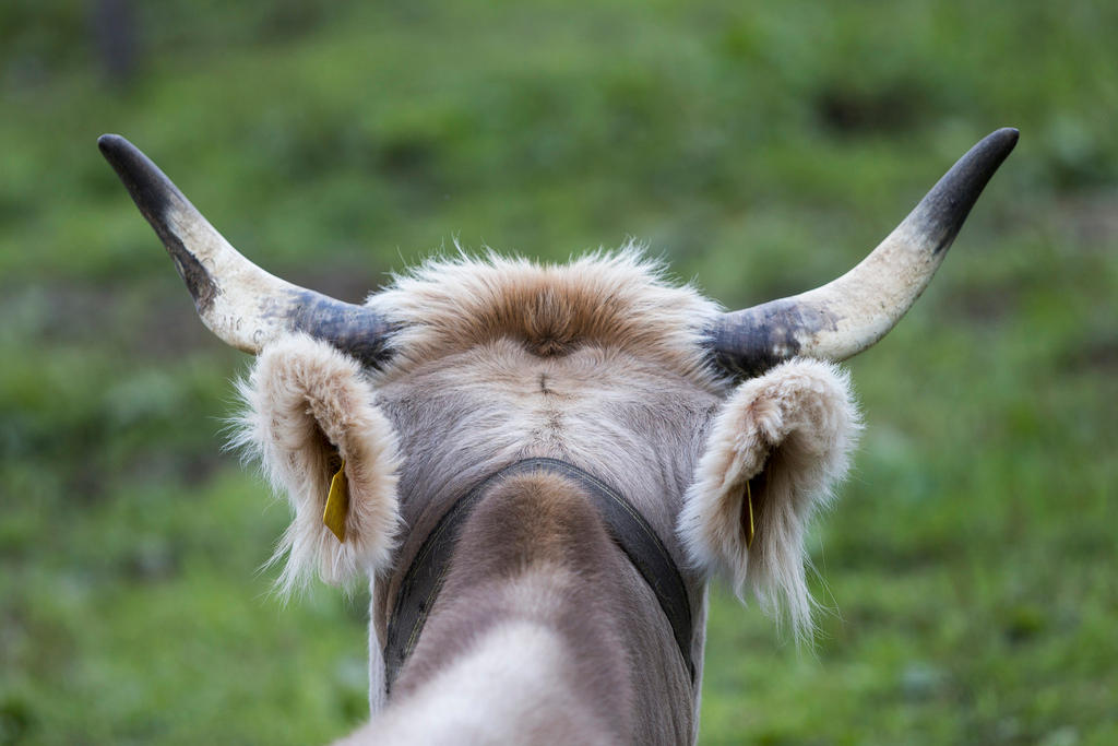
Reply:
[[927, 287], [978, 195], [1016, 143], [1012, 128], [986, 135], [881, 245], [837, 280], [723, 313], [710, 330], [717, 362], [751, 376], [797, 355], [837, 361], [874, 344]]

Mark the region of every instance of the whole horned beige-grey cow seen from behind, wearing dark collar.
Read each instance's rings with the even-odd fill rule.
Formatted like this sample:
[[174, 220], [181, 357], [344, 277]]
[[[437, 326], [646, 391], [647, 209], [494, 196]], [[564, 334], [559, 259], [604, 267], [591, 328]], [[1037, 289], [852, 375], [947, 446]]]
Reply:
[[343, 303], [100, 147], [206, 325], [257, 356], [237, 441], [293, 508], [283, 589], [371, 584], [372, 718], [347, 743], [652, 744], [697, 736], [711, 575], [809, 631], [804, 531], [859, 429], [835, 362], [915, 302], [1016, 140], [842, 277], [733, 312], [632, 247], [430, 261]]

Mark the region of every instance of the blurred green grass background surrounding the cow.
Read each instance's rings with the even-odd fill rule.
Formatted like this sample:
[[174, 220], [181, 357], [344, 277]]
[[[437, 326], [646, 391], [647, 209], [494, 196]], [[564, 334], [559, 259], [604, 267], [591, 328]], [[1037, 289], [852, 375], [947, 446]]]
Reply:
[[1118, 740], [1114, 3], [173, 0], [115, 76], [96, 6], [0, 7], [0, 743], [306, 743], [366, 709], [367, 602], [267, 596], [285, 510], [219, 452], [246, 358], [102, 132], [347, 300], [453, 238], [636, 236], [745, 305], [845, 271], [1004, 124], [940, 276], [852, 362], [817, 650], [716, 591], [702, 740]]

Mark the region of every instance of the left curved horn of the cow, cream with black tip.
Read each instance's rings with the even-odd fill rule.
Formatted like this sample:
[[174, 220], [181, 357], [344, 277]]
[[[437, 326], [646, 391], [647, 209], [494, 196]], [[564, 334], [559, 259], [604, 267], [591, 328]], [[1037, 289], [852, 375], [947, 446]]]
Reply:
[[230, 246], [131, 142], [103, 134], [97, 147], [162, 239], [202, 323], [222, 341], [259, 352], [280, 334], [303, 331], [370, 365], [387, 357], [390, 327], [382, 317], [268, 274]]

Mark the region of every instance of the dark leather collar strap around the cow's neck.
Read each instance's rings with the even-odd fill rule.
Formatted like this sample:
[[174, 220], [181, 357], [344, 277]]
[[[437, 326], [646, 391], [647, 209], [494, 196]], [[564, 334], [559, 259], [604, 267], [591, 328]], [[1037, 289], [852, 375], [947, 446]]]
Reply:
[[404, 575], [392, 615], [388, 621], [385, 644], [385, 681], [389, 690], [405, 661], [415, 649], [427, 615], [446, 580], [451, 568], [454, 545], [466, 518], [487, 489], [500, 478], [517, 474], [550, 472], [560, 474], [582, 488], [601, 516], [614, 542], [629, 558], [633, 566], [660, 602], [679, 646], [683, 664], [694, 682], [695, 669], [691, 660], [691, 603], [679, 567], [672, 560], [664, 542], [632, 502], [594, 474], [557, 459], [524, 459], [483, 478], [457, 498], [416, 554]]

